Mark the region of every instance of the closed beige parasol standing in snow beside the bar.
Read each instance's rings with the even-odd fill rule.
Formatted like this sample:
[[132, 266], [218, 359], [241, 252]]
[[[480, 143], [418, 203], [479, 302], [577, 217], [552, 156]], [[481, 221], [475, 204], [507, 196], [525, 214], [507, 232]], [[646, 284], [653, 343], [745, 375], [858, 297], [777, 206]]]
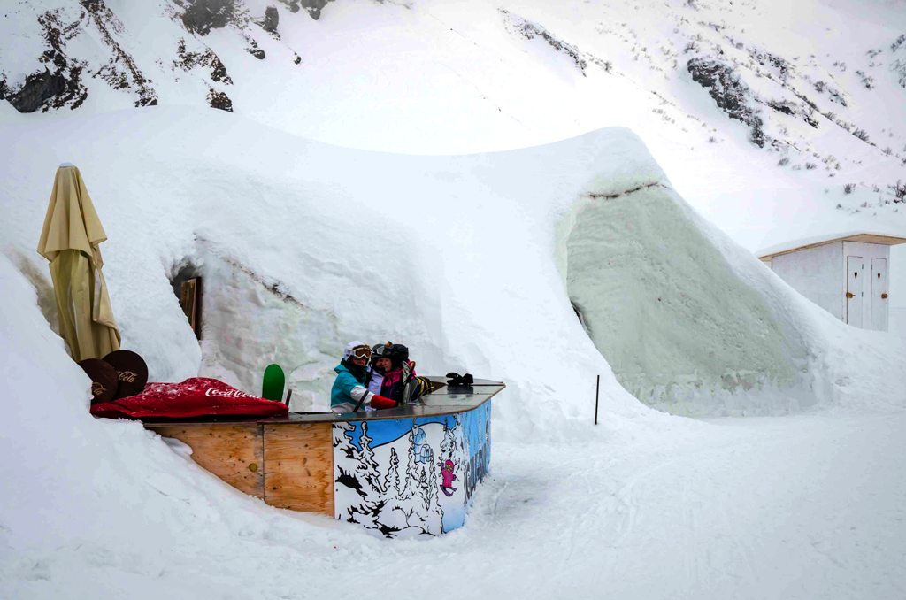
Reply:
[[99, 245], [105, 239], [107, 234], [79, 169], [60, 165], [53, 180], [38, 254], [51, 261], [60, 333], [77, 362], [101, 358], [120, 349], [120, 332], [101, 273]]

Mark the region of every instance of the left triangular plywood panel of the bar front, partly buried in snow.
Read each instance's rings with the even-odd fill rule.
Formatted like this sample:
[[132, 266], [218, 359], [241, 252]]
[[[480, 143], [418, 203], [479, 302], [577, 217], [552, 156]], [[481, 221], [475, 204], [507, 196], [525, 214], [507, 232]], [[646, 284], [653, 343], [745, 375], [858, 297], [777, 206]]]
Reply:
[[239, 491], [264, 498], [264, 449], [257, 423], [169, 425], [145, 423], [165, 438], [176, 438], [192, 449], [192, 460]]

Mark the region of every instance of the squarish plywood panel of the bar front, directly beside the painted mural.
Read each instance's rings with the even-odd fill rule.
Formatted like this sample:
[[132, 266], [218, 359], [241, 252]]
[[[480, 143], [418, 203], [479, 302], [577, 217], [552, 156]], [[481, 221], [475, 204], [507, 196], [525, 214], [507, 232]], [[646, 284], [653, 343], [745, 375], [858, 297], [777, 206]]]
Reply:
[[333, 517], [333, 425], [264, 425], [265, 502]]

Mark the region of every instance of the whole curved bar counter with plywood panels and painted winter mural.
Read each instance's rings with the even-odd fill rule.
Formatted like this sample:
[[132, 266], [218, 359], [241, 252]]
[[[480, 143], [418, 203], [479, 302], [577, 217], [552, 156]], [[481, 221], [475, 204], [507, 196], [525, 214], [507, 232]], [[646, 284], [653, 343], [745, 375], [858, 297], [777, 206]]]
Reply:
[[[438, 380], [442, 382], [443, 380]], [[145, 422], [192, 459], [278, 508], [359, 523], [385, 537], [459, 527], [490, 465], [491, 398], [501, 382], [439, 389], [387, 411]]]

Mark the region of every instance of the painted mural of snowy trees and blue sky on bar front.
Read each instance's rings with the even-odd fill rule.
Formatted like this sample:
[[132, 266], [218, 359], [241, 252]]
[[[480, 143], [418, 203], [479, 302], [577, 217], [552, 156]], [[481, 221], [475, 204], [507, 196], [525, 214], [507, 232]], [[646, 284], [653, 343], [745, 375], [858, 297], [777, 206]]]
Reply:
[[461, 527], [490, 466], [490, 411], [334, 423], [335, 517], [385, 537]]

